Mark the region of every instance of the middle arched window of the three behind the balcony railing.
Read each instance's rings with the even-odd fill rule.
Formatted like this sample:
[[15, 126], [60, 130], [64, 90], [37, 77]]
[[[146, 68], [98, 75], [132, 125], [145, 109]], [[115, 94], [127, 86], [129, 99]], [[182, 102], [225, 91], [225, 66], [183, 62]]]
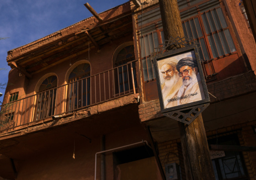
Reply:
[[69, 75], [67, 109], [69, 111], [90, 104], [90, 72], [89, 64], [78, 65]]

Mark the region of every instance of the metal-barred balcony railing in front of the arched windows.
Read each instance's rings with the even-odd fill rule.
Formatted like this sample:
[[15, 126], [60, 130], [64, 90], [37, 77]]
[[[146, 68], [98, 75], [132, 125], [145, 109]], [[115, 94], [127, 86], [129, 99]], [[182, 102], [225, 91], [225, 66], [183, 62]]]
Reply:
[[21, 126], [72, 115], [137, 91], [137, 61], [90, 77], [10, 101], [1, 106], [0, 132]]

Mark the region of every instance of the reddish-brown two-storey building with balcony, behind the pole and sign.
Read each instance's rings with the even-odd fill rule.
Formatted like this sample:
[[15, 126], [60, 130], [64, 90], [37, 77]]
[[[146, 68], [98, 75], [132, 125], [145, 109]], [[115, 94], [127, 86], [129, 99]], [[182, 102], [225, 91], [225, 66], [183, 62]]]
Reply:
[[[216, 179], [256, 179], [256, 45], [240, 0], [180, 0], [211, 103], [203, 120]], [[179, 128], [161, 114], [152, 65], [157, 0], [129, 1], [8, 52], [4, 179], [186, 179]], [[96, 175], [96, 176], [95, 176]]]

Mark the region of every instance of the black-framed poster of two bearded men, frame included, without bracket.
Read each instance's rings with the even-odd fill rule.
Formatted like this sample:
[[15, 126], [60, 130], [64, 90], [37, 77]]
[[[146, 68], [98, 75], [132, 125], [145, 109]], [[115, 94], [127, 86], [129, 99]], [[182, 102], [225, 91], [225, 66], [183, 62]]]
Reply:
[[154, 64], [162, 112], [209, 102], [195, 46], [158, 55]]

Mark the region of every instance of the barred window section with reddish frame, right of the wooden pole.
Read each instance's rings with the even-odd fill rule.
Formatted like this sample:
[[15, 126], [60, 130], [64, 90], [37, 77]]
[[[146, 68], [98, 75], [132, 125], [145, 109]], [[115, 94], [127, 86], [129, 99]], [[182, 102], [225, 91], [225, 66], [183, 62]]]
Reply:
[[[236, 48], [221, 8], [205, 12], [201, 17], [203, 22], [199, 21], [200, 17], [182, 22], [185, 36], [200, 44], [201, 60], [208, 61], [235, 52]], [[202, 24], [205, 29], [202, 28]], [[210, 47], [207, 48], [208, 42]]]

